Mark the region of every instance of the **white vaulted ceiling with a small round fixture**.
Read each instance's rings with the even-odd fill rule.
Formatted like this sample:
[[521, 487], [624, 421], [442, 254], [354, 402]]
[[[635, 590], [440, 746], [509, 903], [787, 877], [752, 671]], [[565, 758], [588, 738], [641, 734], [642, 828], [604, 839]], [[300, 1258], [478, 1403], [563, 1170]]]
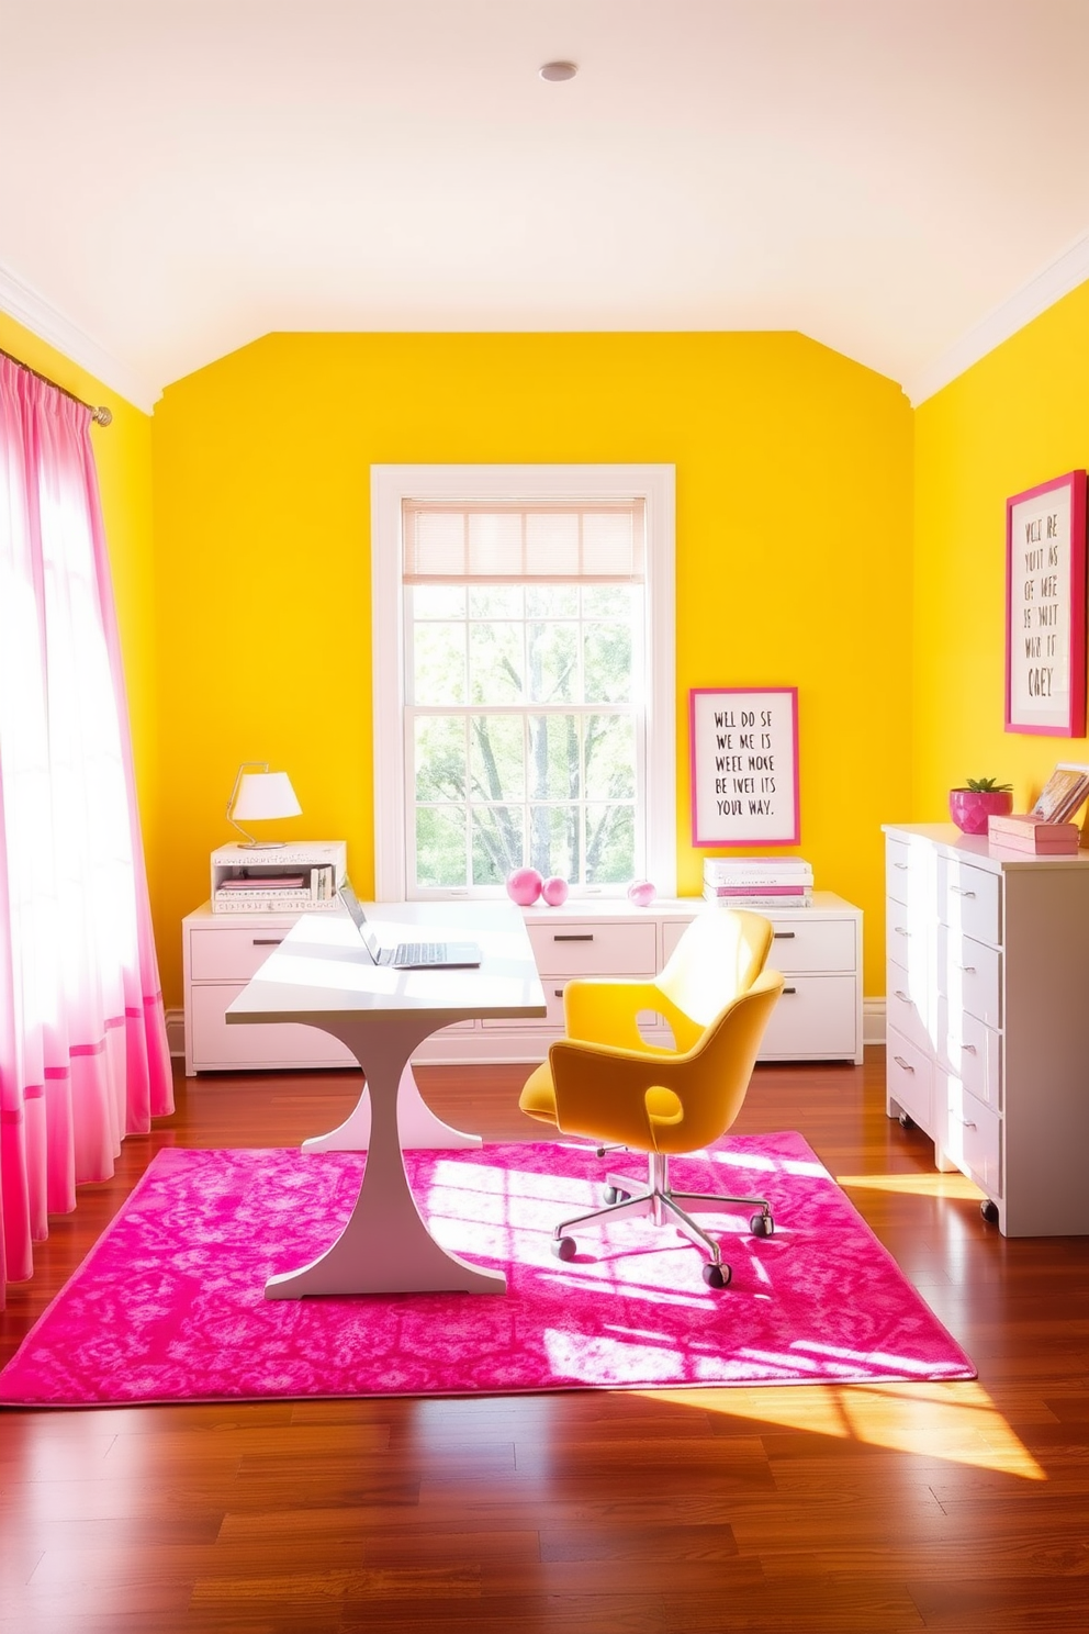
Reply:
[[0, 306], [145, 404], [269, 330], [797, 328], [911, 391], [1089, 276], [1087, 62], [1089, 0], [0, 0]]

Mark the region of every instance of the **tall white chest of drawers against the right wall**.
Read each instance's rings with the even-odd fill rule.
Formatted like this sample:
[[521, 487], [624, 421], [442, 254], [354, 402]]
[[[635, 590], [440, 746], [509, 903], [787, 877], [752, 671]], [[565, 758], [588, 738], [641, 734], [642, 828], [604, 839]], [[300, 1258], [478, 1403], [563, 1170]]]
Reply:
[[1089, 1232], [1089, 851], [885, 837], [888, 1114], [1006, 1235]]

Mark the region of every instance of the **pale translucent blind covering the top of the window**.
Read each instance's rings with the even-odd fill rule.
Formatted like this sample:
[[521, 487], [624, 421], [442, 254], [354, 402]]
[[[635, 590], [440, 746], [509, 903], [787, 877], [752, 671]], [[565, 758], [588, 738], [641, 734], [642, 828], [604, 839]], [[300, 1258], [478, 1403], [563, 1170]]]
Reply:
[[418, 583], [642, 583], [642, 498], [620, 503], [402, 505], [403, 577]]

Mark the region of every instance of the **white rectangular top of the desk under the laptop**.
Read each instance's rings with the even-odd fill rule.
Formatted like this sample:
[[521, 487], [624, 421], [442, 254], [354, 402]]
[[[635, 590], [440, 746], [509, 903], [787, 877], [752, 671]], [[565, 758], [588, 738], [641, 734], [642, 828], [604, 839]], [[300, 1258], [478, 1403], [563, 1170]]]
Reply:
[[304, 913], [227, 1008], [229, 1023], [433, 1015], [542, 1016], [545, 1000], [526, 923], [513, 902], [364, 902], [379, 941], [478, 943], [475, 969], [377, 966], [346, 913]]

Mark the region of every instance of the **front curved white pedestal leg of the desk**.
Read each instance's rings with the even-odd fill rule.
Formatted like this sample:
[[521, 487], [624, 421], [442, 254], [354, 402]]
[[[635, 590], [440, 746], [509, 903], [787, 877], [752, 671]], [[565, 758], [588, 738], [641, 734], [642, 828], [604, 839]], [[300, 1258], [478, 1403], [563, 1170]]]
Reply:
[[366, 1052], [361, 1065], [367, 1075], [371, 1131], [359, 1196], [336, 1242], [310, 1265], [271, 1276], [264, 1297], [504, 1292], [501, 1273], [482, 1271], [439, 1247], [408, 1188], [397, 1113], [405, 1064], [420, 1042], [418, 1029], [385, 1025], [367, 1038], [351, 1029], [336, 1036], [353, 1052], [358, 1047]]

